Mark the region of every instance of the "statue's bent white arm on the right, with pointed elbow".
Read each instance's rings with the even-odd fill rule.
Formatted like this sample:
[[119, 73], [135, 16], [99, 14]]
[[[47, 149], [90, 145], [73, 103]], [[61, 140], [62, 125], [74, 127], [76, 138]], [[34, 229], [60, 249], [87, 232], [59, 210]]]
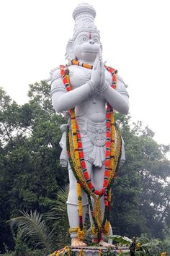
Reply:
[[104, 98], [112, 108], [122, 114], [128, 114], [129, 111], [129, 95], [126, 90], [125, 83], [118, 76], [117, 77], [117, 90], [107, 86], [103, 92]]

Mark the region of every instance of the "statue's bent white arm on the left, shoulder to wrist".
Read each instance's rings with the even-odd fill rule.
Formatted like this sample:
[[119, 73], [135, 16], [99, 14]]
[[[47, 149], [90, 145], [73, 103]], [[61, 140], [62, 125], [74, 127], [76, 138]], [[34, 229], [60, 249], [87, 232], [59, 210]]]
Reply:
[[67, 92], [65, 85], [63, 85], [60, 70], [56, 70], [53, 74], [51, 87], [51, 98], [55, 111], [63, 112], [79, 105], [91, 93], [91, 86], [91, 82], [86, 82], [81, 87]]

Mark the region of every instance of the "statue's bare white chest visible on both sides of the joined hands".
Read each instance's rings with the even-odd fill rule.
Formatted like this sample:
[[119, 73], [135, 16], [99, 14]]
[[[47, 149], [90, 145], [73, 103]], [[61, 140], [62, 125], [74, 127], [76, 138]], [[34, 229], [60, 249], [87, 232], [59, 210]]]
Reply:
[[[80, 66], [70, 66], [68, 69], [71, 87], [73, 89], [84, 85], [91, 78], [91, 69], [86, 69]], [[105, 70], [105, 77], [107, 82], [109, 82], [109, 85], [112, 85], [112, 75], [107, 70]]]

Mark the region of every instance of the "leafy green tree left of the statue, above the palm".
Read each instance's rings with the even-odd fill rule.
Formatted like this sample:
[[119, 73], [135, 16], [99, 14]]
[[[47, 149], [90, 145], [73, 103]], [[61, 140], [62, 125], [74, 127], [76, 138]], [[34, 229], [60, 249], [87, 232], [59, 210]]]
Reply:
[[12, 244], [6, 220], [18, 210], [48, 211], [59, 187], [68, 183], [59, 165], [64, 119], [53, 111], [50, 86], [30, 85], [29, 95], [29, 103], [19, 106], [0, 90], [0, 244]]

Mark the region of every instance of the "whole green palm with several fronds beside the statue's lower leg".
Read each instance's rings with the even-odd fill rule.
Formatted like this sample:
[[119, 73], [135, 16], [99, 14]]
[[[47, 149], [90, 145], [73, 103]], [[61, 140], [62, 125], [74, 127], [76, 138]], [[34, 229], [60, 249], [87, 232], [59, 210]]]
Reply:
[[17, 237], [19, 236], [16, 247], [20, 252], [22, 250], [22, 242], [27, 242], [29, 245], [30, 240], [31, 245], [45, 251], [45, 255], [65, 247], [70, 242], [66, 208], [67, 197], [68, 186], [58, 191], [58, 202], [55, 208], [43, 216], [37, 213], [37, 210], [30, 211], [30, 213], [23, 211], [22, 216], [12, 218], [9, 221], [12, 230], [17, 233]]

